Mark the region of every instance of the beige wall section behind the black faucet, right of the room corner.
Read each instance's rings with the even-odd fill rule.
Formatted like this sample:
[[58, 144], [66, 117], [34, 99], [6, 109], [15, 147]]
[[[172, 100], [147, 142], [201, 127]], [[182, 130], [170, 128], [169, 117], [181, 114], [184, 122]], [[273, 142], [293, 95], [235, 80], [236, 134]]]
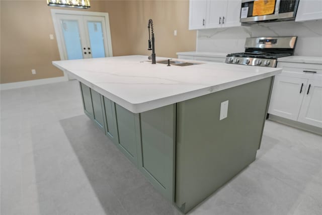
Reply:
[[177, 57], [176, 52], [196, 49], [196, 31], [188, 30], [189, 1], [130, 1], [126, 9], [132, 53], [151, 54], [147, 50], [149, 19], [153, 20], [156, 56]]

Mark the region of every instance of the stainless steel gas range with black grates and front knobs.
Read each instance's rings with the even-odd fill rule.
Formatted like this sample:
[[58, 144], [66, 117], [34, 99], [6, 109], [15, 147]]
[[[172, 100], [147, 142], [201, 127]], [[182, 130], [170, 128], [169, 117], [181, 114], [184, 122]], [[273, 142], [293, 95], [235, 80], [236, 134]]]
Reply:
[[297, 37], [249, 37], [245, 52], [227, 54], [226, 63], [276, 67], [278, 57], [293, 55]]

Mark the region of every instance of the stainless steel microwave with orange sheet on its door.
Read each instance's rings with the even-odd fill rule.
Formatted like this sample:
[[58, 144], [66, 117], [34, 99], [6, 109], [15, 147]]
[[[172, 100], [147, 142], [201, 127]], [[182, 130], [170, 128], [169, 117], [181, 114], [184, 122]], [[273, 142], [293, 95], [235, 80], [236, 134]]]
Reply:
[[299, 0], [242, 0], [240, 22], [278, 22], [295, 20]]

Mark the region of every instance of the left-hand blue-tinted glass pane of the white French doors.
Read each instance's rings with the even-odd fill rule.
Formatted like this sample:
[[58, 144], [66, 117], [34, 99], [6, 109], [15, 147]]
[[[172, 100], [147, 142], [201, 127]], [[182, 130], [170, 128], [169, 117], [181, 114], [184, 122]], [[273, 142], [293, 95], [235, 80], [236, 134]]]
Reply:
[[64, 37], [67, 58], [82, 59], [82, 44], [79, 36], [77, 20], [61, 20], [61, 30]]

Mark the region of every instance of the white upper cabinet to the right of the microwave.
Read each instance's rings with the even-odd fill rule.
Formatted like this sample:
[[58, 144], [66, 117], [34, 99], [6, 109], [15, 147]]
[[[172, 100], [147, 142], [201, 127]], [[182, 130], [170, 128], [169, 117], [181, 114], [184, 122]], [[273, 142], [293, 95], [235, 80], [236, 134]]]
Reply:
[[300, 0], [296, 13], [295, 22], [322, 19], [321, 0]]

